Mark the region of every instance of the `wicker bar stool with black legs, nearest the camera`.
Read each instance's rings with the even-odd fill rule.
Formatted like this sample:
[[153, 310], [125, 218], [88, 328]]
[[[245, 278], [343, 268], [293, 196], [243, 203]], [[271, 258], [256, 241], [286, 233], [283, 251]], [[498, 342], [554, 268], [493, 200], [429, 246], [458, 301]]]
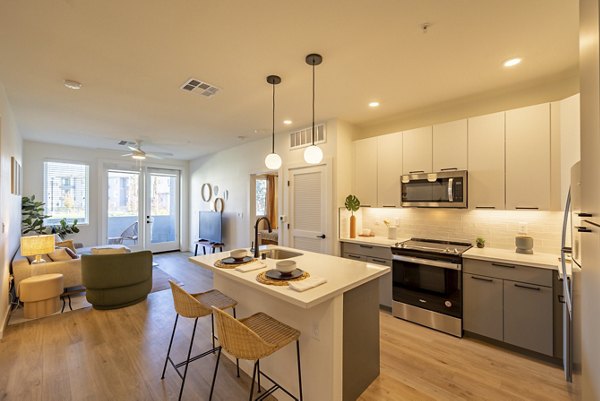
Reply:
[[[300, 332], [288, 325], [273, 319], [271, 316], [259, 312], [244, 319], [237, 320], [231, 317], [221, 309], [213, 306], [213, 315], [217, 320], [217, 333], [219, 335], [217, 364], [210, 390], [210, 399], [212, 399], [217, 370], [219, 369], [219, 359], [221, 358], [221, 348], [236, 357], [236, 359], [246, 359], [255, 361], [252, 371], [252, 386], [250, 387], [249, 400], [252, 401], [254, 394], [254, 381], [258, 378], [258, 392], [260, 393], [260, 376], [267, 378], [273, 386], [257, 397], [255, 401], [263, 400], [273, 394], [278, 389], [283, 390], [287, 395], [296, 401], [302, 401], [302, 373], [300, 369]], [[296, 357], [298, 362], [298, 389], [300, 398], [295, 397], [279, 383], [267, 376], [260, 370], [260, 359], [265, 358], [274, 352], [285, 347], [292, 341], [296, 341]]]

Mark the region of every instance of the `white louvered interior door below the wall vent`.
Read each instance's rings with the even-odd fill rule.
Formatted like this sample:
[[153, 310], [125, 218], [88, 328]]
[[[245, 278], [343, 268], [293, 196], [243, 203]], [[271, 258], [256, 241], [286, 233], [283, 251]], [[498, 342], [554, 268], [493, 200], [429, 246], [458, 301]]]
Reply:
[[290, 170], [290, 246], [327, 253], [327, 167]]

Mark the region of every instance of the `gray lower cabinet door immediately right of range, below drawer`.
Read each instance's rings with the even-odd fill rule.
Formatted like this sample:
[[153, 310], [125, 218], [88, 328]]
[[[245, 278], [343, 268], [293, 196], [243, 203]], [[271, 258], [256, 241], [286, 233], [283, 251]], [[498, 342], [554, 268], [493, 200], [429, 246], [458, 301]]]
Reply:
[[463, 328], [502, 341], [503, 280], [465, 273], [463, 283]]

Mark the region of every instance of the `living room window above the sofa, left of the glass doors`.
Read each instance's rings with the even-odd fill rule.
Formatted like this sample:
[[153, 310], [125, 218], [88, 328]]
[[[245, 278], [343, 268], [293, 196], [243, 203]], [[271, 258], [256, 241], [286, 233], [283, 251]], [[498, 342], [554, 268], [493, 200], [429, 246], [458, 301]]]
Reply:
[[46, 214], [52, 216], [45, 224], [57, 224], [62, 219], [88, 223], [89, 177], [87, 164], [44, 162], [44, 202]]

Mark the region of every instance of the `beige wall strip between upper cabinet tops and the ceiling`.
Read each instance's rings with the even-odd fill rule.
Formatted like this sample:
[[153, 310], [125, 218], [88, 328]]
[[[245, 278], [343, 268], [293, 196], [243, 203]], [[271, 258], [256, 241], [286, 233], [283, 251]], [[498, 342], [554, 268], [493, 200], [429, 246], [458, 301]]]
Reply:
[[[361, 124], [354, 139], [551, 102], [564, 99], [577, 92], [579, 92], [578, 71], [565, 71], [562, 74], [544, 77], [515, 87], [435, 103], [368, 124]], [[407, 94], [407, 96], [409, 95]]]

